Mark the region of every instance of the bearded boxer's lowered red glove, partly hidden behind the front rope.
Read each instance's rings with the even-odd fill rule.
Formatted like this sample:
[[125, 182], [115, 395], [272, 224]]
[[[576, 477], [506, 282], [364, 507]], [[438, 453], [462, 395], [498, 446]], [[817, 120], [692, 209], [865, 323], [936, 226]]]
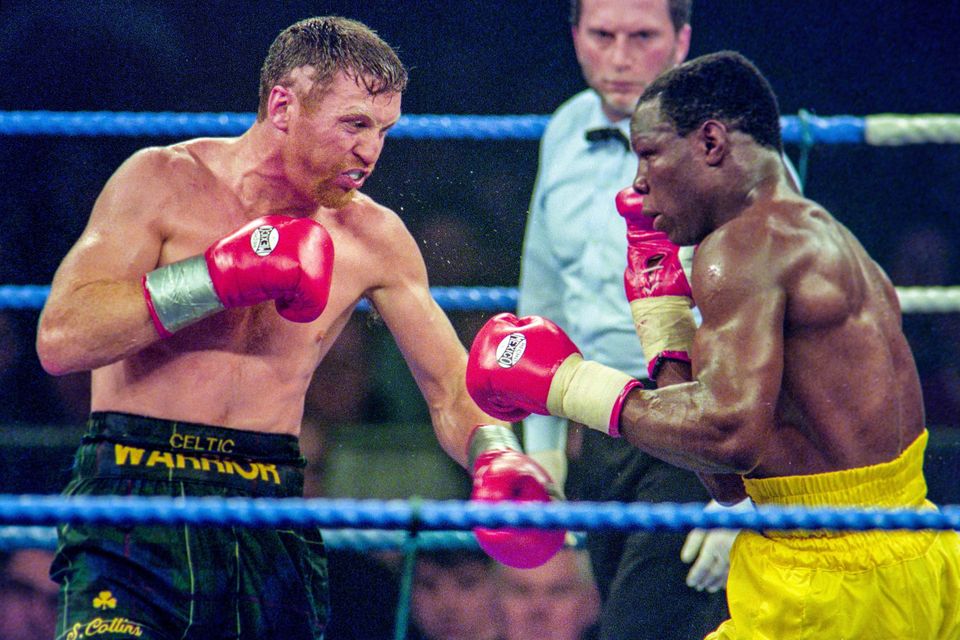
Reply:
[[[520, 450], [509, 427], [480, 425], [468, 446], [473, 471], [472, 500], [481, 502], [550, 502], [559, 492], [543, 467]], [[487, 555], [510, 567], [539, 567], [563, 547], [563, 529], [473, 530]]]

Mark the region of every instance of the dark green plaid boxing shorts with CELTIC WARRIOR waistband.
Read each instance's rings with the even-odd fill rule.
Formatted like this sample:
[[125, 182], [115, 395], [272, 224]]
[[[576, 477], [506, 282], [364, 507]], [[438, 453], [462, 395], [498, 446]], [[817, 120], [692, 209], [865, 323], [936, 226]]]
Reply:
[[[303, 495], [297, 438], [93, 413], [64, 494]], [[320, 530], [219, 525], [58, 528], [57, 638], [323, 637]]]

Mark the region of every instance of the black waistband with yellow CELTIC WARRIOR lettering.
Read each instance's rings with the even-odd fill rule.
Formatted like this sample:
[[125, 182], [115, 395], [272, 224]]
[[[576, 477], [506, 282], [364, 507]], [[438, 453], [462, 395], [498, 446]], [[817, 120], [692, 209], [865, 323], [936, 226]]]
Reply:
[[185, 481], [254, 496], [301, 497], [296, 436], [94, 412], [77, 452], [79, 478]]

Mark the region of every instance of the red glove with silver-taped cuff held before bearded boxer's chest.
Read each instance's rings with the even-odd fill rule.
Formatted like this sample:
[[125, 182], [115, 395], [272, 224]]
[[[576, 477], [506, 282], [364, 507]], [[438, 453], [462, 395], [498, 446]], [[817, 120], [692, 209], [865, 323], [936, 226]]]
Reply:
[[153, 324], [162, 337], [223, 309], [274, 300], [292, 322], [323, 312], [333, 275], [333, 241], [307, 218], [264, 216], [212, 244], [203, 255], [143, 277]]

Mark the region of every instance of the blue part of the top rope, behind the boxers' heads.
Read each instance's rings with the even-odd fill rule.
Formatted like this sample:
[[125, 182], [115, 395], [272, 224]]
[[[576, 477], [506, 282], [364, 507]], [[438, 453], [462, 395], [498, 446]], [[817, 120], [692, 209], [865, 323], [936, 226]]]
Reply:
[[[0, 111], [0, 135], [8, 136], [232, 136], [254, 121], [253, 113], [173, 113], [130, 111]], [[391, 130], [392, 138], [538, 140], [545, 115], [407, 115]], [[828, 144], [863, 144], [866, 120], [857, 116], [781, 116], [783, 140], [812, 139]]]

